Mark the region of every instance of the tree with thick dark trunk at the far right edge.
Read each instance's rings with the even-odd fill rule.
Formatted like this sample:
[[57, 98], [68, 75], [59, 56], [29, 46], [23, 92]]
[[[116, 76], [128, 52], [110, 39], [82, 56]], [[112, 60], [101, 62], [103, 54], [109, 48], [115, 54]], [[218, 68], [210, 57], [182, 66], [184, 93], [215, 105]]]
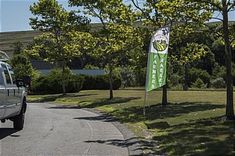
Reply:
[[[207, 3], [212, 11], [219, 12], [222, 18], [214, 17], [214, 19], [222, 22], [222, 38], [225, 48], [225, 63], [226, 63], [226, 85], [227, 85], [227, 98], [226, 98], [226, 117], [228, 120], [235, 120], [234, 107], [233, 107], [233, 78], [232, 78], [232, 45], [234, 39], [232, 36], [233, 31], [229, 31], [228, 13], [235, 10], [234, 0], [196, 0], [199, 3]], [[215, 30], [215, 31], [218, 31]]]

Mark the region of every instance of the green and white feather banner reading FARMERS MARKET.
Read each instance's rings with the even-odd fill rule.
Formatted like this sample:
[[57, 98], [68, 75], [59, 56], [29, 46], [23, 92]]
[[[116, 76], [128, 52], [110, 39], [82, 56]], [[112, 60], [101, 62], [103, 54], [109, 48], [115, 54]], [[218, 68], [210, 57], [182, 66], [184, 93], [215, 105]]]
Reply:
[[148, 53], [146, 92], [166, 84], [167, 54], [170, 29], [160, 28], [152, 37]]

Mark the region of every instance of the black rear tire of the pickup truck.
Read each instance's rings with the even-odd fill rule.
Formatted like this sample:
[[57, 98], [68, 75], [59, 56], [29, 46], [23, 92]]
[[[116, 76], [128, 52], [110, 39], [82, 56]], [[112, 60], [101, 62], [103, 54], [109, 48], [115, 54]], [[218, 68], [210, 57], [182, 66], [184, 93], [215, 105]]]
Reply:
[[25, 118], [25, 106], [26, 103], [23, 103], [22, 110], [19, 115], [17, 115], [13, 120], [13, 125], [15, 130], [22, 130], [24, 128], [24, 118]]

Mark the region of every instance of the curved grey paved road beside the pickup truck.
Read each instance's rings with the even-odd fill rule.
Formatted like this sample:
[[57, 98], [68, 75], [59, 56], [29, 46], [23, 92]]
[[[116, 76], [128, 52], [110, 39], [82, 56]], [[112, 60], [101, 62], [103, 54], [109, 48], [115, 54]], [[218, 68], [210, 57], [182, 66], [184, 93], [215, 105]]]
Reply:
[[104, 116], [82, 109], [29, 104], [23, 131], [0, 126], [1, 156], [126, 156], [121, 132]]

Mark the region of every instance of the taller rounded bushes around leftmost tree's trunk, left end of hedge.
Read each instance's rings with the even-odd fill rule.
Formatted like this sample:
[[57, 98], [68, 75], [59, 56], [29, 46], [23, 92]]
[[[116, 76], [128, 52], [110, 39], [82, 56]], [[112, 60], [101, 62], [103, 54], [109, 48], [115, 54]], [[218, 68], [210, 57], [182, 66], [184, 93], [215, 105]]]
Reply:
[[[65, 74], [66, 73], [66, 74]], [[58, 94], [63, 93], [62, 82], [64, 81], [68, 93], [79, 92], [83, 86], [84, 77], [77, 76], [66, 70], [54, 69], [47, 76], [39, 76], [32, 82], [32, 94]]]

